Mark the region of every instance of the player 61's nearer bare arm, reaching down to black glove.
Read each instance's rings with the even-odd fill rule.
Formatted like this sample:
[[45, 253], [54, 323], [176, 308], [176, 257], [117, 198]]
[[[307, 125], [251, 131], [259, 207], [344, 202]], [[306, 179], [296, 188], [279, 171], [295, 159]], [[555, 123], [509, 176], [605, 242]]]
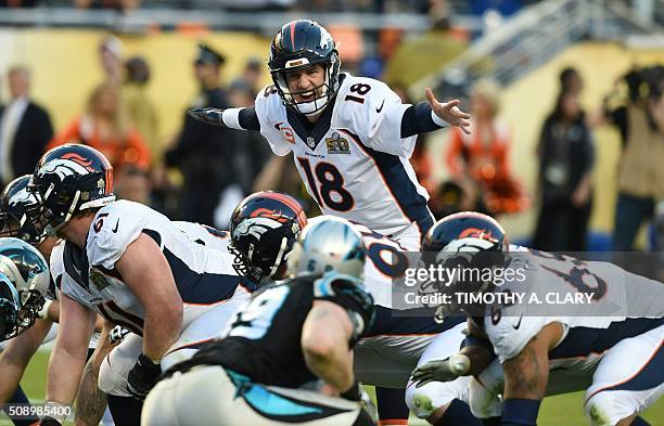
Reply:
[[115, 263], [145, 310], [143, 354], [158, 362], [182, 330], [182, 299], [159, 246], [140, 234]]

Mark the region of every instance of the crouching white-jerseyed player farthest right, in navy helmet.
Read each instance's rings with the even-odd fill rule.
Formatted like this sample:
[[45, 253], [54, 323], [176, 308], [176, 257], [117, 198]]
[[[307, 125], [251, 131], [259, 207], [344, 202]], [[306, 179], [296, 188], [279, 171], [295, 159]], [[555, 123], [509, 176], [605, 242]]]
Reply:
[[[477, 416], [493, 417], [489, 424], [535, 425], [545, 396], [585, 389], [585, 411], [592, 425], [648, 425], [638, 413], [664, 393], [662, 283], [608, 262], [508, 245], [498, 222], [475, 212], [438, 221], [422, 247], [436, 260], [485, 266], [484, 255], [495, 251], [503, 263], [494, 266], [525, 267], [525, 280], [506, 281], [499, 287], [475, 283], [474, 293], [526, 289], [541, 297], [549, 292], [589, 292], [593, 300], [564, 311], [552, 304], [487, 305], [481, 307], [484, 314], [477, 307], [440, 305], [440, 318], [459, 309], [475, 312], [469, 317], [469, 339], [461, 353], [420, 365], [413, 372], [418, 386], [474, 375], [471, 409]], [[499, 364], [485, 369], [487, 351]], [[477, 357], [483, 352], [482, 359]]]

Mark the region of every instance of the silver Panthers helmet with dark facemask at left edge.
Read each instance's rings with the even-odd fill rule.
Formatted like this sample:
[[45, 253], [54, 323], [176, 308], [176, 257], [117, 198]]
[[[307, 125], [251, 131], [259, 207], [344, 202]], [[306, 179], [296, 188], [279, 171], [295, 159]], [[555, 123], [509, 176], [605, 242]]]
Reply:
[[18, 294], [16, 333], [35, 323], [49, 294], [51, 275], [39, 250], [18, 238], [0, 238], [0, 273]]

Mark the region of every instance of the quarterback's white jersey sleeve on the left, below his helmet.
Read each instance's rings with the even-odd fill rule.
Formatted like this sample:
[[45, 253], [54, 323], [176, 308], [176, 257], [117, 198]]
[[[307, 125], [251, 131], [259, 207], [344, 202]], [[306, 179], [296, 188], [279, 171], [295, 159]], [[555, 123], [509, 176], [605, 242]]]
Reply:
[[272, 152], [279, 156], [288, 155], [293, 150], [295, 140], [274, 86], [266, 86], [258, 92], [254, 108], [260, 124], [260, 134], [267, 139]]

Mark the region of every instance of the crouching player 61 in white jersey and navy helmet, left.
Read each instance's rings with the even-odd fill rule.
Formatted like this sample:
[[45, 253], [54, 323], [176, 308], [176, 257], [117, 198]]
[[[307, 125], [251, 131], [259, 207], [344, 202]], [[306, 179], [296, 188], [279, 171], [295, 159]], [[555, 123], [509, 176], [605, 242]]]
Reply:
[[49, 401], [73, 401], [94, 312], [133, 332], [102, 363], [100, 388], [142, 398], [163, 367], [214, 338], [255, 289], [228, 254], [196, 243], [149, 207], [115, 202], [112, 170], [95, 150], [62, 145], [44, 154], [33, 176], [30, 190], [41, 203], [35, 215], [65, 240]]

